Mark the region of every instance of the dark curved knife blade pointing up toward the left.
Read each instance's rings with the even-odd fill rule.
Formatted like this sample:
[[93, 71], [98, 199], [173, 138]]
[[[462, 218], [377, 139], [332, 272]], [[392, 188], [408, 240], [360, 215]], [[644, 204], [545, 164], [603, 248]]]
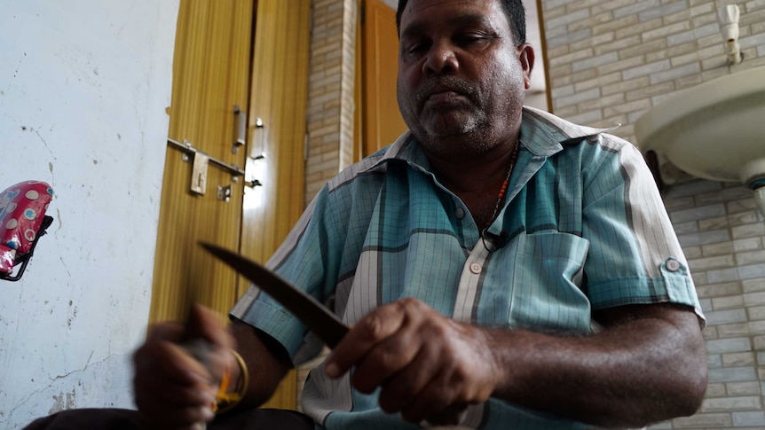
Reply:
[[220, 246], [205, 242], [200, 242], [200, 245], [210, 254], [215, 255], [219, 260], [248, 278], [275, 301], [279, 301], [282, 306], [311, 329], [320, 340], [323, 340], [327, 347], [335, 348], [335, 345], [348, 332], [348, 326], [343, 324], [343, 321], [334, 313], [311, 295], [290, 284], [272, 270]]

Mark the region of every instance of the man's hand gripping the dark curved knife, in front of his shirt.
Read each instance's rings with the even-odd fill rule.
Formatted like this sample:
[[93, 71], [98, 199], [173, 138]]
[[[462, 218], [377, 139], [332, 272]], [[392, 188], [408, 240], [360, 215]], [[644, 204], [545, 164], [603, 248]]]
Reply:
[[325, 372], [337, 378], [353, 367], [353, 387], [367, 394], [381, 388], [382, 410], [414, 423], [450, 425], [493, 392], [495, 364], [486, 341], [476, 327], [406, 299], [352, 327], [327, 358]]

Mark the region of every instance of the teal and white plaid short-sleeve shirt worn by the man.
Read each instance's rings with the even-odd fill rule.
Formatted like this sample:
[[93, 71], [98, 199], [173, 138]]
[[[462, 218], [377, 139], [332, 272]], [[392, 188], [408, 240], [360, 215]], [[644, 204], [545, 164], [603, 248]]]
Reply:
[[[468, 208], [438, 183], [408, 132], [346, 168], [313, 199], [268, 265], [348, 324], [405, 297], [456, 320], [588, 333], [592, 312], [672, 302], [697, 309], [687, 262], [650, 171], [626, 141], [524, 108], [521, 151], [505, 206], [482, 239]], [[300, 363], [320, 344], [256, 286], [232, 316], [269, 333]], [[319, 426], [409, 428], [377, 394], [327, 379], [304, 387]], [[500, 399], [471, 406], [463, 426], [588, 428]]]

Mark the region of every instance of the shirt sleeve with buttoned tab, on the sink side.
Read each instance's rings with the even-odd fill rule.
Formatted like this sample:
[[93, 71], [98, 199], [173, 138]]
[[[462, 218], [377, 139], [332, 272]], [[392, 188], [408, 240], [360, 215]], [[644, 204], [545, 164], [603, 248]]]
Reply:
[[594, 310], [628, 304], [675, 303], [704, 317], [688, 262], [651, 171], [635, 146], [601, 135], [583, 164], [582, 234]]

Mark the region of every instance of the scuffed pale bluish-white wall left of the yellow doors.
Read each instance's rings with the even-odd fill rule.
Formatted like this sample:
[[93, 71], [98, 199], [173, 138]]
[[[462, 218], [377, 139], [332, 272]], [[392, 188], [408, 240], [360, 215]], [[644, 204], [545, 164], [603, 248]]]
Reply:
[[0, 0], [0, 190], [55, 218], [0, 281], [0, 428], [131, 407], [146, 332], [178, 0]]

